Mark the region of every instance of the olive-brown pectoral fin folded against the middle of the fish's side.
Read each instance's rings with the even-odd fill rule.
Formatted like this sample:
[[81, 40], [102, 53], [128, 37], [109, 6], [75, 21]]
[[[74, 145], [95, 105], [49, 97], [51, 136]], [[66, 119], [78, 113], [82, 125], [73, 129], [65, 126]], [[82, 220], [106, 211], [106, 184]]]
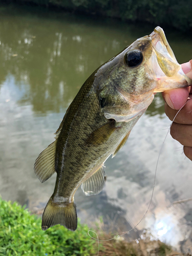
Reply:
[[88, 139], [84, 142], [86, 146], [97, 146], [106, 142], [115, 130], [119, 127], [115, 127], [115, 120], [103, 124], [97, 130], [95, 130]]

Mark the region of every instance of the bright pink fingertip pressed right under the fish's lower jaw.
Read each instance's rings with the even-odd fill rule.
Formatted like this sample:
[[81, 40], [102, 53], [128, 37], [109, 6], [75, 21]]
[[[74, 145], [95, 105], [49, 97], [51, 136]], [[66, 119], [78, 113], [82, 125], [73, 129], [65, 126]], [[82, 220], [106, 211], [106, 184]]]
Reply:
[[174, 110], [179, 110], [187, 101], [189, 88], [167, 90], [162, 93], [165, 102]]

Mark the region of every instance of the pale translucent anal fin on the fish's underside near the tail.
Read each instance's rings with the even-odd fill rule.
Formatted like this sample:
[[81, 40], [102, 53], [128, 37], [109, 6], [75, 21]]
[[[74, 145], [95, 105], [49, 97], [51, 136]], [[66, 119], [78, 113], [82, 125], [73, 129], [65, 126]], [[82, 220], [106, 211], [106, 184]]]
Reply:
[[96, 173], [90, 178], [84, 181], [81, 185], [81, 189], [86, 196], [97, 195], [101, 192], [104, 186], [105, 173], [102, 167], [100, 167]]

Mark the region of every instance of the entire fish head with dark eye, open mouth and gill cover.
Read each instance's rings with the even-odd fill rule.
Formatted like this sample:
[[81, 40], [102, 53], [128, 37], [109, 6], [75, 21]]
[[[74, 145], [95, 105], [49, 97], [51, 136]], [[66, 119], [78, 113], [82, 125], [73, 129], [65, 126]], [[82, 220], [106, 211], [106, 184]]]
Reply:
[[[114, 102], [111, 100], [111, 105], [105, 106], [104, 115], [116, 121], [130, 121], [142, 115], [156, 92], [192, 84], [183, 73], [160, 27], [156, 27], [150, 35], [138, 38], [106, 65], [110, 67], [108, 84], [112, 84], [117, 96]], [[112, 91], [110, 94], [114, 96]], [[123, 100], [124, 109], [119, 103]]]

